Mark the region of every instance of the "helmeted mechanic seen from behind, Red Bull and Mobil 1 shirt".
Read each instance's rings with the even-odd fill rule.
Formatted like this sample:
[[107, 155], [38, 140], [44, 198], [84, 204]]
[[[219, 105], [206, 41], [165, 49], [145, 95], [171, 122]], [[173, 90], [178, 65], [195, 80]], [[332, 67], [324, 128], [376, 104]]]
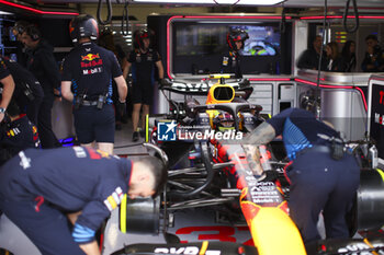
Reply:
[[91, 15], [74, 18], [69, 30], [76, 47], [63, 62], [61, 93], [74, 102], [77, 138], [84, 147], [92, 147], [95, 141], [100, 150], [112, 154], [115, 134], [112, 78], [122, 108], [127, 93], [125, 79], [115, 55], [92, 42], [99, 36], [99, 27]]

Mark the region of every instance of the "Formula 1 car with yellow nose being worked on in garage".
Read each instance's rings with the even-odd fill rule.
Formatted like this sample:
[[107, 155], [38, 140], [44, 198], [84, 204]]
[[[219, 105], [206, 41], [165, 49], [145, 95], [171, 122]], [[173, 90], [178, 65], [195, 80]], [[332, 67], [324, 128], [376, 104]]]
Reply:
[[[155, 149], [169, 167], [163, 194], [155, 200], [123, 201], [123, 232], [157, 233], [161, 227], [167, 244], [133, 244], [114, 254], [384, 254], [384, 184], [380, 170], [362, 171], [361, 187], [351, 211], [351, 236], [358, 230], [363, 237], [324, 240], [304, 246], [301, 234], [289, 217], [289, 183], [284, 177], [281, 142], [270, 146], [240, 146], [228, 139], [242, 138], [264, 119], [262, 107], [247, 102], [252, 92], [249, 82], [225, 82], [193, 86], [169, 82], [162, 91], [194, 97], [170, 103], [170, 115], [157, 117], [147, 147]], [[184, 84], [184, 85], [180, 85]], [[205, 104], [196, 96], [206, 95]], [[251, 155], [251, 157], [249, 157]], [[245, 220], [251, 240], [240, 243], [179, 243], [167, 235], [173, 212], [214, 208], [229, 221]], [[131, 229], [131, 230], [129, 230]], [[221, 240], [228, 241], [228, 240]]]

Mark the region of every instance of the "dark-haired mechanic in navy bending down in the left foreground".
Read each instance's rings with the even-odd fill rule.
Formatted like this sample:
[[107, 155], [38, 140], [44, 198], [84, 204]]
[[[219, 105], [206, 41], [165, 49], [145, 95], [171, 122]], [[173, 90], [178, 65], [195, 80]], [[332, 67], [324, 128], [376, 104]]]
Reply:
[[0, 169], [0, 210], [43, 255], [100, 255], [94, 233], [123, 195], [155, 196], [166, 178], [155, 157], [132, 162], [86, 147], [29, 149]]

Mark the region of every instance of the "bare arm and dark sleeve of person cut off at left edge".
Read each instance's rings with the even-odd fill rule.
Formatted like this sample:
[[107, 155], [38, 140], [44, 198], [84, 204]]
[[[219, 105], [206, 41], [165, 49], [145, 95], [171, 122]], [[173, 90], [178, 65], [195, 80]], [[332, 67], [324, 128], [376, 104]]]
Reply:
[[0, 57], [0, 83], [2, 84], [0, 100], [0, 123], [4, 119], [5, 111], [11, 102], [12, 94], [15, 88], [13, 78], [5, 66], [4, 60]]

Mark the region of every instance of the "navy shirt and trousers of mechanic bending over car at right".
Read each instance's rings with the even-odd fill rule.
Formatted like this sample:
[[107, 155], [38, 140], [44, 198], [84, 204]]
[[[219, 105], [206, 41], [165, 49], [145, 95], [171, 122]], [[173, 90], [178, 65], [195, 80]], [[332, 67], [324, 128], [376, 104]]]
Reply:
[[349, 237], [345, 216], [359, 187], [360, 169], [352, 154], [331, 158], [328, 137], [336, 130], [304, 109], [289, 108], [267, 120], [283, 136], [291, 179], [290, 215], [305, 243], [319, 240], [316, 224], [323, 210], [327, 237]]

